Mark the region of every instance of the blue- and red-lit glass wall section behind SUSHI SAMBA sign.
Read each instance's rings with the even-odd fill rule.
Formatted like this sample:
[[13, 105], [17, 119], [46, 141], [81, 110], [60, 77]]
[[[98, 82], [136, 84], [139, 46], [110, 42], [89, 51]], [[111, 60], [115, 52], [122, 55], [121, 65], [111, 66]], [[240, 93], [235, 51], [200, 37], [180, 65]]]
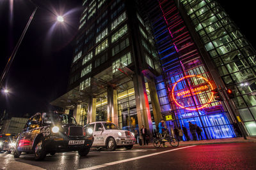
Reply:
[[204, 139], [234, 137], [228, 114], [212, 97], [216, 86], [176, 4], [158, 2], [159, 11], [152, 11], [150, 18], [164, 73], [156, 78], [162, 111], [174, 111], [176, 127], [198, 125]]

